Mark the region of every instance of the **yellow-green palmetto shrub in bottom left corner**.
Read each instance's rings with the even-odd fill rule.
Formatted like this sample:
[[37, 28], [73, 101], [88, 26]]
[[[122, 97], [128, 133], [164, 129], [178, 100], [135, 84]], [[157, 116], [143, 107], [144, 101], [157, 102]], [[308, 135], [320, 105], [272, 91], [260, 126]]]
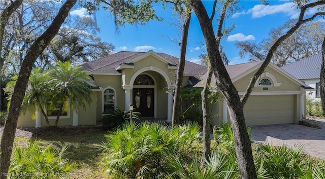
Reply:
[[50, 146], [41, 148], [38, 140], [31, 140], [26, 148], [15, 147], [9, 172], [9, 178], [62, 178], [72, 176], [76, 164], [62, 157], [67, 150], [64, 145], [58, 153]]

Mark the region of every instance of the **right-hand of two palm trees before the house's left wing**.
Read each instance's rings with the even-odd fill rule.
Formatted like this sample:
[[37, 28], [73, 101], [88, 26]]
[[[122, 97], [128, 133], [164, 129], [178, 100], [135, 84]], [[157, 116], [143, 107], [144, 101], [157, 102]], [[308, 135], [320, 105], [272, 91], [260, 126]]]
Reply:
[[[57, 62], [47, 72], [52, 88], [51, 103], [58, 106], [58, 113], [55, 126], [61, 116], [64, 103], [70, 102], [71, 106], [80, 105], [86, 109], [85, 103], [90, 104], [92, 91], [85, 81], [90, 79], [86, 70], [81, 70], [80, 66], [71, 66], [69, 61]], [[69, 108], [69, 106], [68, 106]]]

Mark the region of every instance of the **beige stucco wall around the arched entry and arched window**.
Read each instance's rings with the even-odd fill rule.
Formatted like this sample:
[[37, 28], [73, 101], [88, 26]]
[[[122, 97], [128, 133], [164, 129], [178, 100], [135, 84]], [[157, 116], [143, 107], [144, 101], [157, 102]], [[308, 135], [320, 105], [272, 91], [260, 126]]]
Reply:
[[[96, 118], [97, 120], [101, 120], [102, 117], [102, 103], [103, 103], [103, 92], [106, 88], [113, 88], [116, 92], [116, 106], [117, 108], [121, 110], [125, 110], [125, 89], [123, 89], [123, 80], [125, 80], [125, 85], [130, 85], [130, 80], [134, 76], [137, 71], [140, 69], [143, 69], [144, 67], [156, 67], [164, 71], [164, 73], [168, 76], [169, 81], [172, 85], [174, 85], [175, 76], [174, 71], [175, 69], [168, 69], [168, 65], [161, 61], [157, 60], [153, 56], [145, 57], [139, 61], [136, 61], [134, 63], [134, 68], [125, 68], [122, 69], [121, 75], [93, 75], [94, 82], [96, 85], [103, 88], [103, 91], [97, 92], [97, 102], [96, 105], [98, 108], [96, 108]], [[151, 76], [155, 81], [154, 87], [148, 87], [148, 88], [154, 88], [155, 89], [155, 100], [156, 105], [156, 118], [167, 118], [167, 102], [168, 102], [168, 93], [166, 91], [168, 90], [168, 82], [167, 79], [159, 74], [157, 71], [153, 71], [150, 69], [146, 69], [142, 71], [140, 74], [147, 74]], [[139, 75], [140, 75], [139, 74]], [[188, 78], [188, 77], [187, 77]], [[187, 79], [185, 80], [187, 81]], [[133, 84], [131, 84], [133, 85]], [[187, 84], [186, 84], [187, 85]], [[134, 86], [133, 88], [142, 88], [145, 86]], [[133, 95], [133, 90], [131, 90], [131, 97]], [[133, 97], [132, 97], [133, 98]]]

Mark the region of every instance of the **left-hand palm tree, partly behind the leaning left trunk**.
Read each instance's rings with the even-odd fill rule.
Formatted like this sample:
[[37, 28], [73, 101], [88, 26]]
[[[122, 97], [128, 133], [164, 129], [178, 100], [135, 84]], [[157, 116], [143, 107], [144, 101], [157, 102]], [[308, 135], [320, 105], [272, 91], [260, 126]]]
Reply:
[[[7, 84], [7, 91], [13, 90], [17, 78], [17, 76], [14, 76], [12, 81]], [[22, 112], [26, 112], [27, 110], [31, 112], [40, 110], [45, 118], [46, 123], [50, 125], [47, 114], [44, 110], [44, 106], [49, 101], [48, 94], [50, 88], [48, 81], [49, 77], [46, 74], [43, 74], [40, 68], [32, 69], [21, 110]], [[11, 95], [9, 95], [9, 98], [10, 97]], [[8, 107], [9, 105], [10, 103], [8, 104]], [[32, 115], [32, 117], [35, 118], [35, 113]]]

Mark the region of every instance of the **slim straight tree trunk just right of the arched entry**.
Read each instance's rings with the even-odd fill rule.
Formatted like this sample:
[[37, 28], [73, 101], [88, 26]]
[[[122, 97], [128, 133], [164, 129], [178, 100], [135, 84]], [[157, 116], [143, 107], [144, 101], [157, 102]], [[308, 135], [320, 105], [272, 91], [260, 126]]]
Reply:
[[189, 22], [191, 20], [191, 13], [186, 15], [185, 22], [183, 24], [183, 35], [181, 40], [181, 50], [179, 56], [179, 63], [177, 69], [176, 76], [176, 84], [175, 84], [175, 94], [174, 94], [174, 104], [173, 104], [173, 116], [172, 116], [172, 125], [178, 125], [179, 123], [179, 109], [181, 104], [181, 89], [184, 75], [184, 67], [185, 67], [185, 55], [186, 55], [186, 46], [187, 46], [187, 36], [188, 36], [188, 28]]

